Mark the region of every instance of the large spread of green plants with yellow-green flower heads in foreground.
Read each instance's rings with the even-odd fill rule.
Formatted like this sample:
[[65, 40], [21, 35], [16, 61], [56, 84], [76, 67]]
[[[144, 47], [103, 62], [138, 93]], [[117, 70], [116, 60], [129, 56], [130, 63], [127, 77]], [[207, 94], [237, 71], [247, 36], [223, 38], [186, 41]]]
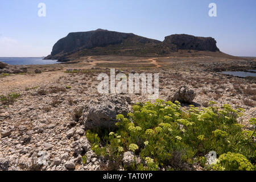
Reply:
[[220, 164], [214, 166], [216, 170], [233, 169], [224, 158], [228, 152], [236, 154], [236, 161], [245, 162], [246, 168], [239, 164], [237, 169], [250, 169], [250, 164], [255, 165], [256, 144], [251, 137], [255, 130], [243, 131], [238, 125], [243, 110], [229, 105], [220, 109], [214, 102], [209, 105], [203, 110], [191, 105], [184, 111], [177, 101], [137, 103], [127, 118], [117, 115], [117, 129], [105, 135], [87, 131], [86, 137], [97, 155], [120, 161], [123, 152], [132, 151], [144, 161], [126, 169], [186, 170], [197, 162], [206, 167], [202, 156], [210, 151], [222, 156]]

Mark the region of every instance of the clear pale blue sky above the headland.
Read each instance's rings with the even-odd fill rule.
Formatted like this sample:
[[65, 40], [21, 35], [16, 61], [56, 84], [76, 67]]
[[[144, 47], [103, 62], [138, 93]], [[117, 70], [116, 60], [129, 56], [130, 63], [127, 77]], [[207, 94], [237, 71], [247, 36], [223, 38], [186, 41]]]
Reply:
[[[39, 3], [46, 17], [38, 16]], [[217, 17], [208, 15], [216, 3]], [[164, 40], [212, 36], [222, 52], [256, 56], [255, 0], [1, 0], [0, 57], [47, 56], [69, 32], [102, 28]]]

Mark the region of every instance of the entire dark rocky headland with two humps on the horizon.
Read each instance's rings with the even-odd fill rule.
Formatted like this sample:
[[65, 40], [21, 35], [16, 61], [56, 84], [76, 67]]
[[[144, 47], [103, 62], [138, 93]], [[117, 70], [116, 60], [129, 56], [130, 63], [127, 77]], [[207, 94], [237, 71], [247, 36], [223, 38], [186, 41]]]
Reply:
[[98, 29], [69, 33], [52, 48], [45, 59], [69, 61], [89, 55], [166, 56], [179, 49], [219, 51], [216, 40], [192, 35], [171, 35], [163, 42], [135, 34]]

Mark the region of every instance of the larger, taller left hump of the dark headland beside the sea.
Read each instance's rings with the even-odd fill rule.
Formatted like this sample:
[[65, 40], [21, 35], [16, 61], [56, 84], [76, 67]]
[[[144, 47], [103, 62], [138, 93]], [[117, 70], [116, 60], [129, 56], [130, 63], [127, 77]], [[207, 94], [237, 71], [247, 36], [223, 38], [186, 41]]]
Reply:
[[156, 46], [159, 40], [143, 38], [142, 36], [98, 29], [88, 32], [69, 33], [54, 46], [51, 55], [45, 59], [68, 60], [74, 53], [82, 55], [121, 54], [127, 49], [139, 52], [143, 47]]

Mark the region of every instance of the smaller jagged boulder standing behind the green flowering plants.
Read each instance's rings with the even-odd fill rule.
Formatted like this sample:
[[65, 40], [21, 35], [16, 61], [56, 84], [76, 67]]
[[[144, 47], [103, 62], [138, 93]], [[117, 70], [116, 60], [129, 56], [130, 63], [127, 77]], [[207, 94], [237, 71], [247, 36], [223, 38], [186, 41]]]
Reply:
[[174, 101], [179, 101], [181, 103], [191, 104], [196, 97], [195, 92], [192, 89], [188, 89], [187, 86], [180, 86], [179, 90], [174, 94], [174, 96], [169, 99]]

